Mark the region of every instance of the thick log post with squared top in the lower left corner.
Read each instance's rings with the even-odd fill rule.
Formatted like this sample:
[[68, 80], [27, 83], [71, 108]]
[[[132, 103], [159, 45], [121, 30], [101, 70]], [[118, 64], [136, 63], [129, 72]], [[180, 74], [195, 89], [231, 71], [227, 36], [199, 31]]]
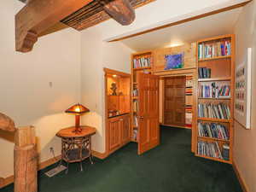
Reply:
[[38, 191], [38, 154], [34, 127], [15, 132], [15, 192]]

